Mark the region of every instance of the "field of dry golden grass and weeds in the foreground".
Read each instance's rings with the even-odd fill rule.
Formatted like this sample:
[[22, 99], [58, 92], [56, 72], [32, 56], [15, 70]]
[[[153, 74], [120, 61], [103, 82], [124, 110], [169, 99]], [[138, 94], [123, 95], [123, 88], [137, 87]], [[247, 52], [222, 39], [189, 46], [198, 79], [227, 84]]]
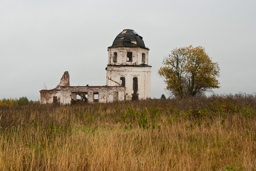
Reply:
[[256, 170], [256, 97], [0, 106], [0, 170]]

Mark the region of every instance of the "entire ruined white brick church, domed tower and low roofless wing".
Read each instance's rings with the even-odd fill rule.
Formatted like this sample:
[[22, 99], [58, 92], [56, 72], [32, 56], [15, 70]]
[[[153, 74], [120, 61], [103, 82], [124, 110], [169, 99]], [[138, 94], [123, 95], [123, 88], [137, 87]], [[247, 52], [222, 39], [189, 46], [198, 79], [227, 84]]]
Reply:
[[125, 29], [116, 36], [112, 46], [108, 47], [106, 86], [70, 86], [66, 71], [55, 89], [39, 91], [41, 104], [148, 99], [151, 72], [148, 51], [140, 35], [134, 30]]

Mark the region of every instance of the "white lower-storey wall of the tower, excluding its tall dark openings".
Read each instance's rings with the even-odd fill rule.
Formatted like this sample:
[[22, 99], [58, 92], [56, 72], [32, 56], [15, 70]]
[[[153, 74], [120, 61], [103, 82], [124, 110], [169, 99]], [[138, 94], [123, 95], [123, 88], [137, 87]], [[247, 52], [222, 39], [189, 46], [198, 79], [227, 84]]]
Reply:
[[133, 77], [138, 78], [139, 99], [150, 98], [151, 66], [107, 66], [107, 86], [119, 86], [120, 78], [125, 77], [125, 95], [132, 99]]

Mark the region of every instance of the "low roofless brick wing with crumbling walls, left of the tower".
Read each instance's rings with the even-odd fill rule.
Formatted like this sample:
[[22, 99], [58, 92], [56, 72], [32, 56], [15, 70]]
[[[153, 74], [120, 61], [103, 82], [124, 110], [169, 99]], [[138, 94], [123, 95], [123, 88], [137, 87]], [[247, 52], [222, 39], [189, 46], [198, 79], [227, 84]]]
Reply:
[[[125, 100], [125, 87], [121, 86], [69, 86], [69, 74], [66, 71], [60, 84], [51, 90], [41, 90], [41, 104], [70, 104], [75, 101], [85, 103], [106, 103]], [[80, 99], [79, 99], [80, 98]]]

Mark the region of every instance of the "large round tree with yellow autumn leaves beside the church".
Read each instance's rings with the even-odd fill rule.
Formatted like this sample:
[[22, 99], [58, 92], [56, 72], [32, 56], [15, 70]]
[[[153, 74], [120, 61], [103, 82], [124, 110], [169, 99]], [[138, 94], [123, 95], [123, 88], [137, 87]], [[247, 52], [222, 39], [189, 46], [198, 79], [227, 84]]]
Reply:
[[220, 68], [201, 46], [173, 49], [168, 57], [164, 58], [163, 67], [158, 74], [164, 78], [166, 89], [175, 97], [195, 97], [203, 91], [220, 88], [217, 77]]

